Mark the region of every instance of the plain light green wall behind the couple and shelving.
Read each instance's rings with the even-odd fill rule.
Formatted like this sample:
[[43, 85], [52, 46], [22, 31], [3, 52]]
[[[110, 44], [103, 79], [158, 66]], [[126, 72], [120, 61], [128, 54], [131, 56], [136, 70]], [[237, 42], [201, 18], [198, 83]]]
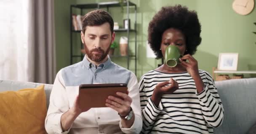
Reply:
[[[70, 4], [97, 3], [112, 0], [55, 0], [55, 27], [57, 49], [57, 71], [69, 65], [69, 8]], [[137, 77], [138, 79], [149, 70], [155, 69], [160, 60], [146, 57], [147, 27], [149, 21], [162, 6], [186, 5], [189, 10], [196, 10], [202, 25], [202, 43], [197, 48], [194, 57], [199, 68], [212, 73], [212, 67], [217, 66], [221, 52], [239, 53], [237, 70], [256, 70], [256, 10], [249, 15], [238, 15], [232, 10], [233, 0], [131, 0], [137, 5]], [[93, 9], [91, 9], [93, 10]], [[120, 15], [120, 8], [109, 8], [109, 13], [119, 24], [123, 24], [126, 8]], [[134, 9], [131, 8], [131, 23], [134, 23]], [[134, 27], [131, 25], [132, 28]], [[116, 41], [125, 33], [116, 33]], [[134, 54], [134, 33], [131, 34], [130, 52]], [[76, 37], [80, 45], [80, 36]], [[115, 50], [118, 53], [119, 49]], [[112, 58], [112, 61], [126, 67], [124, 58]], [[130, 61], [130, 70], [134, 72], [134, 60]], [[249, 77], [248, 75], [246, 75]]]

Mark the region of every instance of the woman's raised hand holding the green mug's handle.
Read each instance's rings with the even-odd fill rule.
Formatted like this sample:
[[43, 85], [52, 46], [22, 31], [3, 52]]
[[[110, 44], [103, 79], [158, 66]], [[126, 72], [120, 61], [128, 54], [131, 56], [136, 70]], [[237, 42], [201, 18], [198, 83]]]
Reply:
[[[188, 62], [183, 60], [188, 60]], [[192, 78], [199, 76], [197, 60], [194, 57], [192, 57], [190, 54], [186, 54], [181, 57], [179, 61], [181, 62], [181, 65], [186, 68], [187, 72]]]

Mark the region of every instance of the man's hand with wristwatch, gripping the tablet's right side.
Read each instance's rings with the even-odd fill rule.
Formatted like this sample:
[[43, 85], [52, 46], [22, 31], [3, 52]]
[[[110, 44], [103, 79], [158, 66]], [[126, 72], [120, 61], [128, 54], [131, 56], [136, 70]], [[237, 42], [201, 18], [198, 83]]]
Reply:
[[109, 95], [106, 100], [106, 106], [117, 111], [120, 116], [127, 116], [131, 110], [132, 99], [125, 93], [116, 93], [120, 98]]

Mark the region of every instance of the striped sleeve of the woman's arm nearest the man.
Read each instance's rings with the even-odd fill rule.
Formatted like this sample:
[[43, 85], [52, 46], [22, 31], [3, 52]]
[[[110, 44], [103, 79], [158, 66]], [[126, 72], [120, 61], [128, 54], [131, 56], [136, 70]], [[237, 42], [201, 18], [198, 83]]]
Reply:
[[154, 126], [155, 120], [158, 114], [163, 110], [161, 102], [159, 106], [155, 106], [151, 98], [146, 94], [144, 77], [141, 77], [139, 81], [139, 93], [140, 93], [140, 102], [141, 102], [141, 113], [143, 118], [143, 127], [141, 134], [149, 134]]

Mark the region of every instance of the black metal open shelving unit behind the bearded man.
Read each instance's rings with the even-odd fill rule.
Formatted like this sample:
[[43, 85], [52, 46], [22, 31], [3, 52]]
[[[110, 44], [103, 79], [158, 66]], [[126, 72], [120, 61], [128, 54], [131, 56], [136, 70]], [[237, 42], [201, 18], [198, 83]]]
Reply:
[[[104, 9], [106, 10], [107, 12], [109, 12], [109, 8], [112, 8], [112, 7], [119, 7], [119, 8], [122, 8], [122, 10], [124, 10], [123, 8], [126, 8], [126, 13], [127, 13], [127, 18], [130, 18], [129, 17], [129, 14], [130, 14], [130, 8], [132, 9], [132, 11], [135, 13], [134, 15], [134, 28], [131, 29], [131, 27], [129, 29], [125, 29], [125, 28], [119, 28], [119, 29], [114, 29], [115, 32], [117, 33], [120, 33], [122, 32], [122, 34], [126, 34], [127, 35], [127, 38], [128, 38], [128, 41], [131, 41], [130, 39], [130, 36], [131, 34], [134, 35], [135, 39], [133, 40], [133, 42], [135, 42], [134, 44], [135, 45], [132, 45], [134, 46], [134, 49], [135, 49], [135, 54], [132, 54], [130, 55], [130, 53], [128, 53], [127, 56], [121, 56], [120, 54], [115, 54], [115, 55], [111, 55], [109, 57], [113, 58], [113, 59], [121, 59], [122, 62], [127, 62], [127, 69], [129, 70], [129, 67], [131, 66], [130, 65], [130, 62], [134, 62], [134, 67], [135, 67], [135, 75], [136, 75], [136, 70], [137, 70], [137, 31], [136, 31], [136, 13], [137, 13], [137, 6], [136, 4], [130, 2], [129, 0], [127, 0], [127, 2], [125, 3], [119, 3], [120, 0], [114, 0], [114, 1], [110, 1], [110, 2], [101, 2], [101, 3], [90, 3], [90, 4], [77, 4], [77, 5], [70, 5], [70, 15], [72, 16], [72, 13], [73, 13], [73, 10], [76, 9], [76, 13], [77, 13], [77, 9], [80, 9], [80, 14], [84, 14], [85, 12], [85, 9], [92, 9], [92, 10], [96, 10], [96, 9]], [[115, 10], [115, 9], [114, 9]], [[86, 10], [87, 11], [87, 10]], [[123, 14], [125, 15], [125, 14]], [[70, 64], [73, 64], [73, 59], [81, 59], [81, 61], [83, 60], [83, 57], [84, 57], [84, 52], [81, 51], [81, 54], [78, 53], [78, 54], [74, 54], [73, 53], [73, 39], [77, 39], [77, 33], [81, 33], [80, 30], [78, 31], [75, 31], [73, 30], [73, 27], [72, 27], [72, 19], [71, 19], [71, 22], [70, 22]], [[120, 33], [121, 34], [121, 33]], [[75, 38], [73, 38], [73, 36], [75, 36]], [[77, 44], [78, 45], [78, 44]], [[129, 44], [128, 44], [129, 45]], [[83, 45], [81, 44], [80, 45], [81, 49], [83, 49]], [[131, 61], [131, 60], [134, 60], [134, 61]], [[76, 60], [77, 61], [77, 60]], [[132, 64], [133, 65], [133, 64]]]

